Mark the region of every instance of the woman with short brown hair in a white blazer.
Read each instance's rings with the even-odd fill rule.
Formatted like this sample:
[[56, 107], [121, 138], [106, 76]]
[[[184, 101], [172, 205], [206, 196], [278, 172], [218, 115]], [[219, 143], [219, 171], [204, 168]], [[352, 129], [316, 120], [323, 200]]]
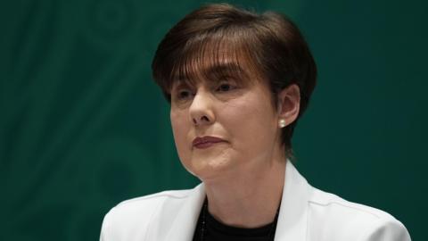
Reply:
[[169, 30], [152, 71], [202, 184], [119, 204], [102, 240], [410, 240], [390, 214], [311, 187], [292, 165], [317, 75], [292, 21], [206, 5]]

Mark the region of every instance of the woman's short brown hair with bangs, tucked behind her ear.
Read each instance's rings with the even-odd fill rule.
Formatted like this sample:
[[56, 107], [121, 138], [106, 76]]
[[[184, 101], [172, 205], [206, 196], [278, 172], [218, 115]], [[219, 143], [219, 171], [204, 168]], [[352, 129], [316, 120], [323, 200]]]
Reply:
[[[300, 87], [299, 120], [316, 85], [317, 66], [300, 30], [277, 12], [258, 14], [230, 4], [208, 4], [187, 14], [158, 46], [152, 62], [153, 79], [170, 102], [174, 81], [192, 80], [194, 72], [202, 71], [206, 64], [220, 66], [223, 61], [223, 66], [225, 55], [235, 59], [231, 67], [239, 65], [244, 56], [245, 62], [268, 83], [274, 104], [282, 89], [297, 84]], [[218, 71], [225, 69], [218, 68]], [[291, 140], [297, 120], [282, 132], [288, 157], [292, 157]]]

